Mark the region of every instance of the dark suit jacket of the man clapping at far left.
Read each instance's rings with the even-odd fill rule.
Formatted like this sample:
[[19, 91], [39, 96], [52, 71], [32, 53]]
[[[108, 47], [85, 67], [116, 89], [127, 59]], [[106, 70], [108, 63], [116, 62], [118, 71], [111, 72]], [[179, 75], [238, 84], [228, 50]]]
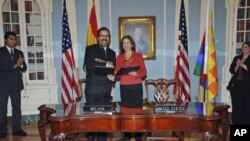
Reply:
[[[11, 55], [6, 46], [0, 47], [0, 85], [1, 88], [7, 88], [12, 86], [17, 90], [23, 89], [22, 72], [27, 70], [26, 63], [23, 63], [22, 67], [14, 69], [19, 56], [24, 57], [23, 52], [14, 49], [14, 61], [11, 59]], [[1, 90], [0, 90], [1, 91]]]

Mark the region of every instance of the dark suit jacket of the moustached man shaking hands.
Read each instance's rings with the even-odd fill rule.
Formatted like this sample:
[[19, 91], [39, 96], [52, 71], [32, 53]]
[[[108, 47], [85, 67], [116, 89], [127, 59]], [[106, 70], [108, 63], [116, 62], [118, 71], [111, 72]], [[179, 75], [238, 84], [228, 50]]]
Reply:
[[111, 91], [112, 82], [107, 79], [106, 76], [95, 75], [95, 66], [105, 66], [106, 63], [100, 63], [95, 59], [101, 59], [104, 61], [111, 61], [115, 65], [116, 54], [110, 48], [106, 50], [107, 57], [105, 57], [105, 51], [98, 44], [94, 44], [86, 47], [85, 51], [85, 63], [87, 69], [86, 75], [86, 87], [85, 93], [104, 93], [105, 91]]

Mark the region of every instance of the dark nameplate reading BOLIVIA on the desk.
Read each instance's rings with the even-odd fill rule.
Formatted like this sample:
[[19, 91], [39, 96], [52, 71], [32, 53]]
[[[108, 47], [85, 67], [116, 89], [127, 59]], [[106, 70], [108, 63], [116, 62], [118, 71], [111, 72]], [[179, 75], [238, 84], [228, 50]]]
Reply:
[[83, 106], [84, 114], [112, 114], [111, 105], [85, 105]]

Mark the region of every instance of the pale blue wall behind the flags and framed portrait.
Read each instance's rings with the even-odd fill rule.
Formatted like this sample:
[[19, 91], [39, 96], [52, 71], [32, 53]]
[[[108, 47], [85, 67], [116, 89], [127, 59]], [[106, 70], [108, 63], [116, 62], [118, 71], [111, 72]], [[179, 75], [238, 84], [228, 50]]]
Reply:
[[[69, 0], [68, 0], [69, 2]], [[111, 4], [109, 4], [111, 2]], [[198, 51], [200, 49], [200, 2], [201, 0], [189, 0], [188, 17], [188, 47], [189, 47], [189, 65], [191, 78], [191, 98], [195, 101], [198, 93], [199, 78], [193, 75]], [[77, 42], [78, 42], [78, 63], [80, 68], [80, 77], [84, 78], [85, 73], [82, 70], [83, 57], [86, 44], [87, 33], [87, 0], [75, 0], [76, 19], [77, 19]], [[165, 5], [164, 5], [165, 4]], [[111, 5], [111, 7], [109, 7]], [[166, 7], [164, 13], [164, 7]], [[174, 0], [100, 0], [101, 26], [107, 26], [111, 29], [112, 43], [111, 48], [118, 54], [118, 17], [120, 16], [155, 16], [156, 17], [156, 60], [146, 60], [148, 69], [148, 78], [166, 77], [174, 78], [175, 63], [175, 1]], [[111, 15], [109, 15], [111, 8]], [[166, 17], [164, 17], [166, 16]], [[53, 0], [52, 13], [52, 34], [54, 62], [57, 72], [58, 97], [60, 100], [61, 83], [61, 19], [62, 0]], [[110, 23], [111, 18], [111, 23]], [[166, 25], [164, 26], [164, 18]], [[164, 27], [166, 27], [164, 29]], [[165, 33], [164, 33], [165, 32]], [[215, 45], [217, 53], [217, 65], [219, 82], [221, 81], [222, 66], [225, 59], [225, 40], [226, 40], [226, 8], [225, 0], [215, 0]], [[74, 34], [74, 33], [71, 33]], [[166, 36], [164, 36], [166, 35]], [[165, 67], [164, 67], [165, 66]], [[219, 85], [220, 86], [220, 85]], [[115, 99], [120, 100], [119, 84], [115, 88]], [[221, 88], [216, 101], [220, 101]], [[152, 99], [152, 95], [151, 95]]]

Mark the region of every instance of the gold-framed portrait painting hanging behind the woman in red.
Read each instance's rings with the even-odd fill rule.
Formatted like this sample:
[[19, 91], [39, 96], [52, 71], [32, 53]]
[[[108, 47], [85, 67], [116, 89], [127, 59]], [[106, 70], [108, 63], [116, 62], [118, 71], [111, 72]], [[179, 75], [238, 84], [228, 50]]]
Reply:
[[155, 16], [119, 17], [119, 39], [124, 35], [133, 37], [144, 59], [155, 59]]

